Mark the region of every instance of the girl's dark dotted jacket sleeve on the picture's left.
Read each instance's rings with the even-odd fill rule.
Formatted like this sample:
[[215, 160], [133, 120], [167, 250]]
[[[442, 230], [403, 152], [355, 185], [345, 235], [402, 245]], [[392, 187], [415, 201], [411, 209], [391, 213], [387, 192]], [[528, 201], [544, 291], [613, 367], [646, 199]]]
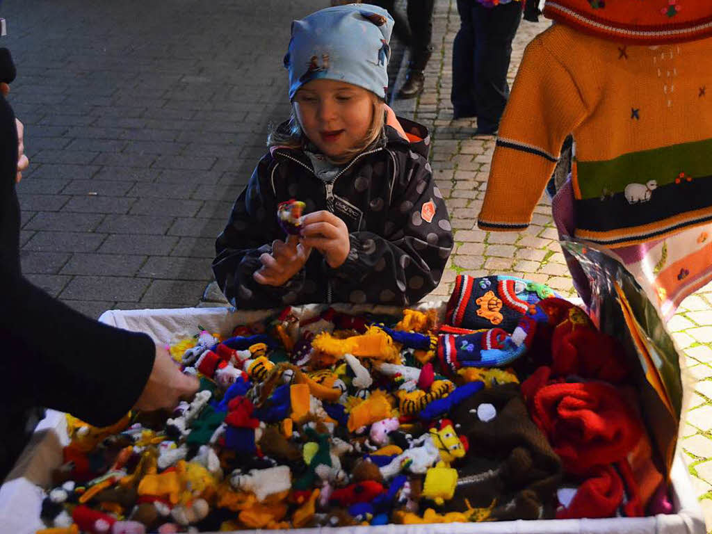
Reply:
[[284, 239], [277, 222], [277, 201], [271, 184], [271, 157], [255, 167], [250, 182], [232, 208], [227, 226], [215, 242], [213, 273], [226, 298], [236, 308], [274, 308], [284, 305], [288, 293], [302, 291], [305, 269], [283, 286], [267, 286], [252, 274], [261, 268], [260, 256], [272, 252], [272, 243]]

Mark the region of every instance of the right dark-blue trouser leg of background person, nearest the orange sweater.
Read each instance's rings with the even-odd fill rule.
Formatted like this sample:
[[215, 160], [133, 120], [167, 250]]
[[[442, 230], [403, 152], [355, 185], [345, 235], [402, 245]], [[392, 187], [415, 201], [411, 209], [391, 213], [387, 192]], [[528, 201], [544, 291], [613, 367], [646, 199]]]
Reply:
[[499, 127], [509, 98], [507, 70], [512, 56], [512, 40], [522, 17], [520, 2], [493, 8], [476, 4], [473, 12], [476, 51], [476, 96], [478, 132], [494, 132]]

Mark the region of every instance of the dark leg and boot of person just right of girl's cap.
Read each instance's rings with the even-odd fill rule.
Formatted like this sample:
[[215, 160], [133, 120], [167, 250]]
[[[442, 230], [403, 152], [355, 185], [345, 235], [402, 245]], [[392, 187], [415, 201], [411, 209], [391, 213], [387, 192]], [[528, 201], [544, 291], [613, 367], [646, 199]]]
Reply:
[[406, 80], [397, 98], [414, 98], [423, 92], [423, 70], [428, 64], [433, 47], [433, 8], [435, 0], [408, 0], [407, 14], [410, 32], [410, 61]]

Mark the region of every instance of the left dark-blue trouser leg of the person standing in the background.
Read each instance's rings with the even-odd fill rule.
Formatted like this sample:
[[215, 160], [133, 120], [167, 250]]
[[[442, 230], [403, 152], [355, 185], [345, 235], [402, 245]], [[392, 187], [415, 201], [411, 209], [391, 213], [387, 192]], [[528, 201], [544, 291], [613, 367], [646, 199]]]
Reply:
[[460, 29], [452, 44], [452, 102], [453, 118], [476, 117], [475, 98], [475, 35], [472, 26], [474, 0], [457, 0]]

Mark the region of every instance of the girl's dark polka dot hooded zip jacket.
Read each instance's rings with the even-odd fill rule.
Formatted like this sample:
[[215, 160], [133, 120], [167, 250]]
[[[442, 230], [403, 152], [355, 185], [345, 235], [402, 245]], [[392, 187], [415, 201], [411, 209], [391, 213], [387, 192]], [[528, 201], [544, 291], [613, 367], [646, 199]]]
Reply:
[[[427, 160], [429, 135], [399, 118], [419, 138], [386, 135], [347, 164], [330, 182], [314, 174], [300, 150], [273, 148], [258, 162], [230, 219], [216, 240], [213, 271], [236, 308], [304, 303], [416, 303], [439, 283], [453, 245], [442, 194]], [[339, 268], [312, 251], [304, 268], [281, 287], [252, 278], [259, 256], [285, 239], [277, 204], [298, 199], [305, 214], [328, 209], [349, 229], [350, 252]]]

